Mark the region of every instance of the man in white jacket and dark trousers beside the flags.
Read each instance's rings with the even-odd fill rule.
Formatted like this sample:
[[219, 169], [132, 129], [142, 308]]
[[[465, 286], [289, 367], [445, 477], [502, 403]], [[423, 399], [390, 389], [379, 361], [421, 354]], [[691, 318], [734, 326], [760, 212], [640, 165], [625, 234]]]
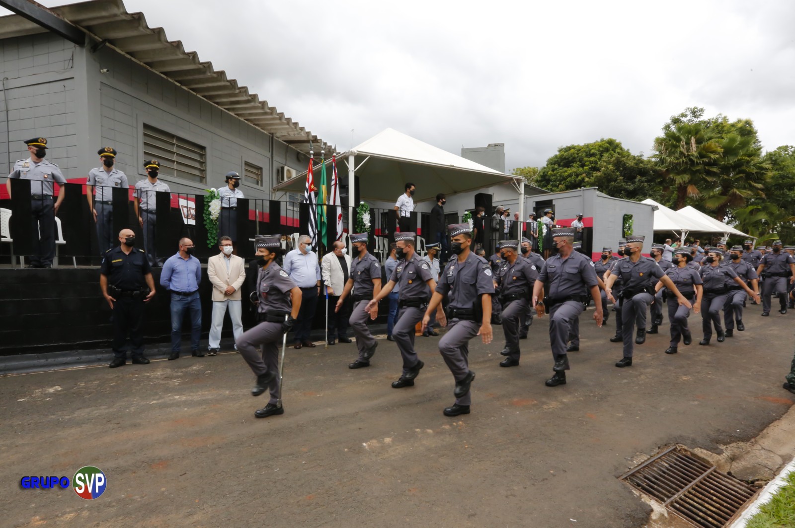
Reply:
[[343, 305], [336, 311], [339, 295], [342, 294], [348, 279], [351, 278], [351, 256], [343, 241], [335, 241], [334, 249], [323, 256], [320, 262], [320, 276], [328, 291], [328, 334], [326, 341], [329, 345], [335, 344], [335, 339], [340, 343], [351, 343], [347, 337], [348, 318], [351, 317], [351, 303], [343, 301]]

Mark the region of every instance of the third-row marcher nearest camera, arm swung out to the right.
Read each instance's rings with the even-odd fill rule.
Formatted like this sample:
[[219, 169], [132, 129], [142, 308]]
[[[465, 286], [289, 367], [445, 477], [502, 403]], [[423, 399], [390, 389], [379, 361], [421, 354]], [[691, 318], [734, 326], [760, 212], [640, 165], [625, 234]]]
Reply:
[[[677, 287], [673, 285], [671, 279], [662, 272], [662, 268], [653, 259], [642, 256], [643, 241], [646, 237], [633, 235], [626, 237], [626, 248], [624, 255], [626, 258], [619, 260], [615, 264], [614, 271], [620, 274], [623, 280], [621, 291], [621, 319], [622, 319], [622, 341], [624, 342], [623, 357], [616, 362], [619, 368], [632, 365], [632, 330], [638, 326], [638, 336], [634, 342], [642, 345], [646, 342], [646, 309], [654, 300], [654, 279], [659, 279], [663, 286], [668, 288], [669, 295], [675, 295], [679, 303], [688, 308], [692, 307], [688, 299], [679, 293]], [[611, 288], [615, 283], [616, 277], [611, 274], [607, 279], [607, 298], [615, 303], [611, 295]]]

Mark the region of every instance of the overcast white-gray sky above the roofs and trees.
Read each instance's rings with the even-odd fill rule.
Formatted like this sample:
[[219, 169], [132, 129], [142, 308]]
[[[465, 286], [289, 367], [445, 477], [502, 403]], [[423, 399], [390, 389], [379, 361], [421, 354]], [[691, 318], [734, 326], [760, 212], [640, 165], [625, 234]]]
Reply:
[[600, 137], [648, 155], [686, 106], [795, 145], [792, 0], [125, 6], [339, 150], [392, 127], [456, 154], [505, 143], [508, 172]]

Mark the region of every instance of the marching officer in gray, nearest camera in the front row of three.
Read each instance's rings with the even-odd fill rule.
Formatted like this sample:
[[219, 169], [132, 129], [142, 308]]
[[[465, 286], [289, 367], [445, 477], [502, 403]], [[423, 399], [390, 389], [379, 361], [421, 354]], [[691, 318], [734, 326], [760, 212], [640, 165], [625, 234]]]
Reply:
[[[452, 258], [444, 267], [422, 319], [422, 329], [431, 318], [433, 310], [441, 306], [442, 298], [448, 298], [448, 331], [439, 340], [439, 352], [456, 380], [453, 395], [456, 403], [445, 407], [445, 416], [469, 414], [471, 405], [470, 386], [475, 372], [469, 369], [469, 340], [480, 334], [483, 344], [491, 343], [491, 295], [494, 293], [491, 266], [486, 259], [471, 252], [472, 231], [469, 224], [448, 225], [452, 243]], [[514, 242], [516, 244], [516, 242]], [[505, 247], [505, 242], [502, 243]], [[514, 245], [514, 252], [516, 246]], [[401, 288], [402, 291], [402, 288]], [[443, 319], [444, 321], [444, 319]]]

